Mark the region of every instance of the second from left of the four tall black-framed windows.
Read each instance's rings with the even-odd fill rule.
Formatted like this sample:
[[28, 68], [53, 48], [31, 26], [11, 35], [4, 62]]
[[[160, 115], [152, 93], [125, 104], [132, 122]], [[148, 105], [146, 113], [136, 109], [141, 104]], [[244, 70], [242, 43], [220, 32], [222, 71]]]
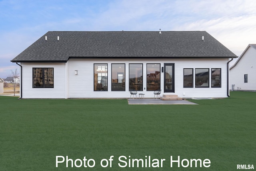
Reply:
[[112, 91], [125, 91], [125, 64], [112, 64]]

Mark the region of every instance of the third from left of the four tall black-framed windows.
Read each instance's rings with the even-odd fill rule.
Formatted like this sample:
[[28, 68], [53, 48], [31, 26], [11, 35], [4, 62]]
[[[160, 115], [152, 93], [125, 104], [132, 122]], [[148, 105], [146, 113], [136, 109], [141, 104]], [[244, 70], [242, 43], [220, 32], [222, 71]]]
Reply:
[[143, 91], [142, 64], [129, 64], [129, 89]]

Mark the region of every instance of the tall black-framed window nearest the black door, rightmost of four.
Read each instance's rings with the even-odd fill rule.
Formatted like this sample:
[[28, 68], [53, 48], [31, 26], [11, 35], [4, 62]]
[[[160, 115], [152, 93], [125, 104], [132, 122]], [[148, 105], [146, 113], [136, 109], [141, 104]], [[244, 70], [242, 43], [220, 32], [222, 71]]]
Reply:
[[147, 91], [160, 89], [160, 64], [147, 64]]

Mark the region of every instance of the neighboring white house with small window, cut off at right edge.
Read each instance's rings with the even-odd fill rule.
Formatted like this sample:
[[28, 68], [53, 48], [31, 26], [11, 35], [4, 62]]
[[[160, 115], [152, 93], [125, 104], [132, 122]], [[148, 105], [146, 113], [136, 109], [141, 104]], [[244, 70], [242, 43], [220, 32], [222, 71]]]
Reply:
[[256, 44], [249, 44], [230, 68], [230, 89], [256, 91]]

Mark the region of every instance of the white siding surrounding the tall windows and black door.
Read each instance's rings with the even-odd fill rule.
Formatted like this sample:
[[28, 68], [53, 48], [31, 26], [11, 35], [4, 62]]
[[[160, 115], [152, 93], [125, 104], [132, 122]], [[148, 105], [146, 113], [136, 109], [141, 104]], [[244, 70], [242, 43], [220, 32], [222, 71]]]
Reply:
[[[164, 93], [164, 73], [161, 72], [161, 89], [163, 94], [176, 94], [183, 98], [209, 98], [209, 97], [227, 97], [227, 62], [228, 59], [212, 59], [212, 60], [78, 60], [70, 59], [68, 62], [68, 98], [128, 98], [129, 93], [129, 64], [143, 64], [143, 85], [145, 89], [138, 91], [144, 93], [145, 98], [152, 98], [152, 91], [146, 91], [146, 64], [160, 64], [160, 68], [164, 67], [164, 63], [173, 63], [175, 66], [175, 92]], [[108, 64], [108, 91], [94, 91], [94, 64]], [[126, 91], [111, 91], [111, 64], [125, 64], [126, 67]], [[200, 88], [184, 88], [183, 87], [183, 69], [184, 68], [221, 68], [221, 87], [200, 87]], [[75, 75], [78, 70], [78, 75]], [[160, 70], [161, 71], [161, 70]], [[195, 71], [194, 71], [195, 74]], [[55, 77], [55, 76], [54, 76]], [[211, 82], [211, 76], [209, 78]], [[195, 77], [194, 77], [195, 84]]]

